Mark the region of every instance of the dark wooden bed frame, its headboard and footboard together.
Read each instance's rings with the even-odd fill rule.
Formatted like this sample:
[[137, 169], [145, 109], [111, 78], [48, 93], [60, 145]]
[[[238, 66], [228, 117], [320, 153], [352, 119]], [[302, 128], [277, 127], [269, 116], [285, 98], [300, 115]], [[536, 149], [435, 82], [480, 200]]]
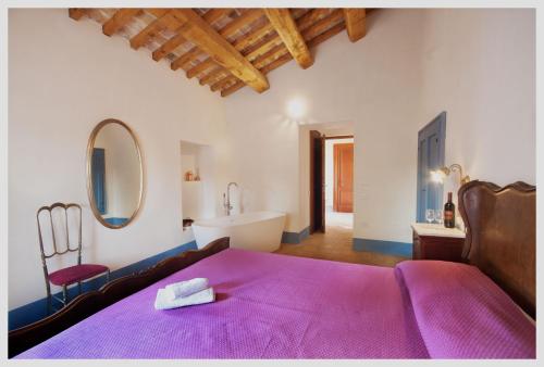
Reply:
[[[536, 188], [515, 182], [504, 188], [471, 181], [459, 189], [458, 205], [467, 226], [463, 258], [493, 279], [535, 318]], [[10, 331], [13, 357], [90, 315], [228, 248], [222, 238], [202, 250], [166, 258], [148, 270], [112, 280], [98, 291], [78, 295], [58, 313]]]

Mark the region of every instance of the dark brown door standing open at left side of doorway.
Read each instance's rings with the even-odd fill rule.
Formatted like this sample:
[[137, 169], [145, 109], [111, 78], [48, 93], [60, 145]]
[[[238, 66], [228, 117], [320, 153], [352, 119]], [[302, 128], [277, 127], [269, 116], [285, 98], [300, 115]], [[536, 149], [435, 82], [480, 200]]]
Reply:
[[325, 137], [310, 131], [310, 233], [325, 231]]

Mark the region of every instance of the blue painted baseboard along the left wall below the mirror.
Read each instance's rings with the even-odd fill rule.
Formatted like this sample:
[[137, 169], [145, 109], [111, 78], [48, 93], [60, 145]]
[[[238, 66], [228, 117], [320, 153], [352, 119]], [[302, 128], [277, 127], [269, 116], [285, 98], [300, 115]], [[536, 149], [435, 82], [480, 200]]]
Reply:
[[[197, 243], [195, 241], [178, 245], [174, 249], [161, 252], [157, 255], [144, 258], [137, 263], [127, 265], [125, 267], [122, 267], [120, 269], [113, 270], [110, 274], [110, 280], [118, 279], [134, 273], [138, 273], [141, 270], [145, 270], [158, 262], [170, 257], [177, 255], [182, 252], [185, 252], [187, 250], [197, 250]], [[94, 291], [99, 289], [106, 283], [106, 275], [100, 276], [97, 278], [94, 278], [89, 281], [82, 282], [82, 292], [88, 292], [88, 291]], [[44, 286], [45, 287], [45, 286]], [[44, 290], [45, 291], [45, 290]], [[75, 298], [78, 292], [77, 292], [77, 286], [73, 286], [69, 288], [67, 290], [69, 299]], [[55, 294], [58, 298], [62, 298], [62, 293], [57, 293]], [[57, 300], [53, 299], [53, 308], [60, 308], [61, 304]], [[8, 328], [10, 330], [21, 328], [25, 325], [35, 322], [37, 320], [42, 319], [44, 317], [47, 317], [47, 298], [42, 298], [40, 300], [30, 302], [28, 304], [25, 304], [21, 307], [14, 308], [10, 312], [8, 312]]]

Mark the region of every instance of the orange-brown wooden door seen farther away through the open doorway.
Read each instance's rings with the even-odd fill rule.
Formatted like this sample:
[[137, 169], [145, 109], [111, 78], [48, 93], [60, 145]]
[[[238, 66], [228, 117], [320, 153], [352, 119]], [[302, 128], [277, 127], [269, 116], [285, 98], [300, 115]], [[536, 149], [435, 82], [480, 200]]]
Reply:
[[335, 212], [354, 212], [354, 143], [334, 144], [334, 195]]

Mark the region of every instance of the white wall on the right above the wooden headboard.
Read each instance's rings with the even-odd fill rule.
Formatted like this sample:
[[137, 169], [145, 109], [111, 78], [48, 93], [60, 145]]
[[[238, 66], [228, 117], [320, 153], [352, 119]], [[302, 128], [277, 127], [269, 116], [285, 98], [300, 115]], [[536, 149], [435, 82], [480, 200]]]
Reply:
[[[446, 111], [446, 164], [534, 185], [534, 10], [428, 10], [423, 24], [419, 127]], [[456, 191], [458, 176], [445, 184]]]

